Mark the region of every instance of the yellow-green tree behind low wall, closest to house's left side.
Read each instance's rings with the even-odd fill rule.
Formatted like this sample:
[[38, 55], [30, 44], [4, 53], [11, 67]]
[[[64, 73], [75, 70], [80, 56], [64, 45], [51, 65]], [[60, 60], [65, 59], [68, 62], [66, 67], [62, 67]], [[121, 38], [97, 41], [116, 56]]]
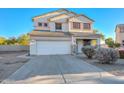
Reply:
[[18, 43], [19, 45], [29, 45], [29, 35], [28, 34], [24, 34], [24, 35], [21, 35], [20, 37], [18, 37]]

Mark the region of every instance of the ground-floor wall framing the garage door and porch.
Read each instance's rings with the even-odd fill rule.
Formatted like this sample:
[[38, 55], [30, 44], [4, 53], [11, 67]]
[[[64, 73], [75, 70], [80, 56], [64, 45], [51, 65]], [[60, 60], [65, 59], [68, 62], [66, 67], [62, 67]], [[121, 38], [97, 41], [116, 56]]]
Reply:
[[[83, 47], [83, 44], [80, 44], [77, 45], [76, 44], [76, 40], [78, 39], [81, 39], [81, 40], [84, 40], [84, 39], [90, 39], [91, 41], [93, 40], [96, 40], [95, 43], [93, 42], [92, 45], [98, 45], [100, 46], [100, 39], [97, 38], [97, 37], [37, 37], [37, 36], [33, 36], [31, 37], [31, 43], [30, 43], [30, 54], [31, 55], [37, 55], [38, 53], [38, 41], [43, 41], [43, 42], [51, 42], [51, 41], [58, 41], [58, 42], [61, 42], [61, 41], [69, 41], [70, 42], [70, 47], [71, 47], [71, 50], [70, 50], [70, 53], [71, 54], [74, 54], [74, 53], [82, 53], [81, 52], [81, 48]], [[56, 43], [57, 44], [57, 43]], [[56, 45], [56, 44], [53, 44], [52, 45]], [[50, 47], [49, 45], [47, 46], [48, 48]], [[46, 48], [46, 47], [45, 47]]]

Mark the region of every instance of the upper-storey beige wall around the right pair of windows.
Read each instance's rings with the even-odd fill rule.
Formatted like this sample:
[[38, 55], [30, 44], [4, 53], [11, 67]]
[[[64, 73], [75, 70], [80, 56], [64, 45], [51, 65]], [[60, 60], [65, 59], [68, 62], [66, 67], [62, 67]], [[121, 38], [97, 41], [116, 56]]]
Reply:
[[[80, 22], [82, 27], [81, 29], [73, 29], [72, 28], [72, 23], [73, 22]], [[83, 29], [83, 23], [90, 23], [91, 24], [91, 29], [90, 30], [85, 30]], [[69, 19], [69, 31], [70, 32], [88, 32], [88, 33], [92, 33], [93, 32], [93, 29], [92, 29], [92, 21], [90, 21], [89, 19], [83, 17], [83, 16], [80, 16], [80, 17], [73, 17], [71, 19]]]

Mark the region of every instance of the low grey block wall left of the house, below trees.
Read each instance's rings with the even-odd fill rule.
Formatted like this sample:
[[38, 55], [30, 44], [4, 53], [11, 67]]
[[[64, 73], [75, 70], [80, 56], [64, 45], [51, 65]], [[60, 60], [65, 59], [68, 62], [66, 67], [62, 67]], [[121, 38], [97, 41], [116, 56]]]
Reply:
[[29, 51], [29, 46], [0, 45], [0, 51]]

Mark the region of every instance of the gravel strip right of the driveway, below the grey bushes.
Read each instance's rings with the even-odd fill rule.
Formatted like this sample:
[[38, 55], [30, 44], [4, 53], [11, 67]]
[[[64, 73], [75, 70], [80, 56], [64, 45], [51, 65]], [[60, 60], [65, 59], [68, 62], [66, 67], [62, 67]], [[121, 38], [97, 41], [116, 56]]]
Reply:
[[97, 66], [113, 75], [124, 76], [124, 59], [119, 59], [115, 64], [100, 64], [96, 59], [88, 59], [85, 55], [81, 54], [78, 58]]

